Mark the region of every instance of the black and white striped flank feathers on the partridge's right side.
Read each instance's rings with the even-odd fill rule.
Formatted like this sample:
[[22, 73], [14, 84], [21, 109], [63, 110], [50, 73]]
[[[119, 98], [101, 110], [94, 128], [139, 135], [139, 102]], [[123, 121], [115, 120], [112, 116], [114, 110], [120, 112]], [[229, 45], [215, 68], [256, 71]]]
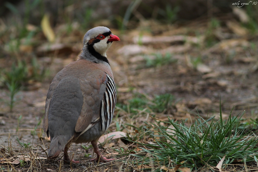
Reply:
[[107, 74], [106, 91], [103, 94], [101, 101], [99, 117], [100, 117], [100, 130], [105, 132], [110, 126], [114, 111], [116, 107], [116, 84], [114, 79]]

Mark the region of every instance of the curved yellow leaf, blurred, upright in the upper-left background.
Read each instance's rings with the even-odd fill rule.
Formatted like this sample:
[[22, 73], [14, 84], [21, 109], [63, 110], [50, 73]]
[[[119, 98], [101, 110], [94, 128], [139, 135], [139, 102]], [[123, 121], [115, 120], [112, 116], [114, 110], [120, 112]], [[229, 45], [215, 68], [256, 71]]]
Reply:
[[42, 28], [44, 35], [48, 39], [48, 41], [54, 42], [55, 34], [54, 34], [53, 29], [50, 26], [49, 15], [47, 15], [47, 14], [44, 15], [43, 19], [41, 20], [41, 28]]

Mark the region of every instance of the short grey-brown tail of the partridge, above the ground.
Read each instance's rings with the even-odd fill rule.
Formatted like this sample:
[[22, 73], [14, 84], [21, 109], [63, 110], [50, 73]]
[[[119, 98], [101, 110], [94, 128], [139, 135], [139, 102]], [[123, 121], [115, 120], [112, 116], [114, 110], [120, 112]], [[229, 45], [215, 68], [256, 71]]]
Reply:
[[64, 146], [66, 142], [67, 141], [65, 140], [64, 136], [54, 137], [50, 142], [48, 157], [49, 158], [57, 157], [60, 154], [60, 152], [64, 151]]

